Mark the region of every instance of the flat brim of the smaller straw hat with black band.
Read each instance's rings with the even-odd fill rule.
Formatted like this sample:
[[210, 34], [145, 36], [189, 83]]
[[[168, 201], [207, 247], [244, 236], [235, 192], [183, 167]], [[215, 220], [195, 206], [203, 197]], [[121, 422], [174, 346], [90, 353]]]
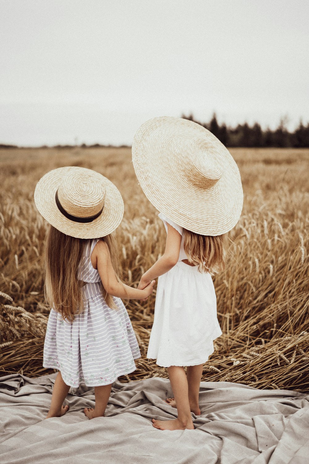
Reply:
[[[45, 174], [34, 191], [34, 202], [39, 213], [60, 232], [76, 238], [100, 238], [114, 232], [123, 218], [124, 204], [117, 187], [103, 175], [102, 183], [106, 189], [103, 211], [92, 222], [80, 223], [65, 217], [57, 207], [56, 192], [63, 178], [74, 175], [76, 166], [53, 169]], [[77, 171], [76, 171], [77, 170]], [[91, 171], [89, 169], [89, 171]]]

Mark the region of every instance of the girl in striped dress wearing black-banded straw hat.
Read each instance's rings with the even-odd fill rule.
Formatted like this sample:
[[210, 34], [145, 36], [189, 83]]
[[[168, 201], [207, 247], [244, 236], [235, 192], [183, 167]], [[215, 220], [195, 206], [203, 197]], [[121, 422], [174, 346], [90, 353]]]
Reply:
[[43, 366], [59, 370], [46, 418], [67, 412], [63, 401], [69, 388], [81, 382], [95, 387], [95, 408], [84, 408], [85, 415], [104, 416], [112, 383], [133, 372], [140, 357], [120, 298], [147, 298], [154, 281], [137, 290], [118, 277], [117, 245], [110, 233], [120, 224], [123, 202], [101, 174], [76, 167], [55, 169], [38, 182], [35, 203], [50, 223], [45, 296], [52, 309]]

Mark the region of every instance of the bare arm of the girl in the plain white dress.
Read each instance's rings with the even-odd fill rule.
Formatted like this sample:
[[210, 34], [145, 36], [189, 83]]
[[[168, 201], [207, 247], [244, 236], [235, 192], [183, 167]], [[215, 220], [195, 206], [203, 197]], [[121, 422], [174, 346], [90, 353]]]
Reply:
[[138, 286], [139, 289], [145, 288], [153, 279], [162, 276], [162, 274], [170, 271], [175, 266], [179, 258], [181, 239], [181, 234], [174, 227], [170, 226], [170, 224], [167, 224], [164, 255], [142, 275]]

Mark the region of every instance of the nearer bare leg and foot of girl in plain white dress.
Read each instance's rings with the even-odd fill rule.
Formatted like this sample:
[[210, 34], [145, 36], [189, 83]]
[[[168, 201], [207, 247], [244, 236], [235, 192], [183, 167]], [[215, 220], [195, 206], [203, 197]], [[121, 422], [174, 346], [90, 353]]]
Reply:
[[188, 381], [184, 368], [180, 366], [170, 366], [167, 370], [169, 373], [170, 385], [175, 395], [178, 418], [172, 420], [152, 419], [153, 426], [160, 430], [194, 430], [188, 396]]

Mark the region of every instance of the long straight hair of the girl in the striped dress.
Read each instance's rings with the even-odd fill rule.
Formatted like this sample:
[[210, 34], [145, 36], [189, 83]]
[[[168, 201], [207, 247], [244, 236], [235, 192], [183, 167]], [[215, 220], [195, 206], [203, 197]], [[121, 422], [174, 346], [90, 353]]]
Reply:
[[[109, 249], [112, 264], [120, 280], [118, 250], [114, 236], [102, 237]], [[87, 239], [70, 237], [55, 227], [50, 226], [45, 248], [45, 286], [46, 302], [63, 319], [73, 322], [76, 314], [81, 314], [84, 307], [82, 286], [79, 277], [79, 264]], [[117, 309], [111, 296], [102, 285], [102, 293], [107, 305]]]

